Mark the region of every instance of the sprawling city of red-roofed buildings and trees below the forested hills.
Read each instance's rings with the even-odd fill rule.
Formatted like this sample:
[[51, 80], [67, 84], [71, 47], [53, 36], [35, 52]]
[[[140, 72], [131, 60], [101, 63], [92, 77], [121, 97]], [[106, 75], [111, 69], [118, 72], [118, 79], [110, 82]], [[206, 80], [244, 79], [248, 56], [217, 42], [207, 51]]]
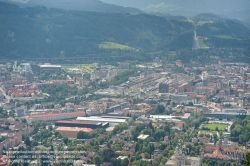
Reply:
[[242, 165], [250, 151], [250, 68], [213, 58], [1, 64], [1, 161]]

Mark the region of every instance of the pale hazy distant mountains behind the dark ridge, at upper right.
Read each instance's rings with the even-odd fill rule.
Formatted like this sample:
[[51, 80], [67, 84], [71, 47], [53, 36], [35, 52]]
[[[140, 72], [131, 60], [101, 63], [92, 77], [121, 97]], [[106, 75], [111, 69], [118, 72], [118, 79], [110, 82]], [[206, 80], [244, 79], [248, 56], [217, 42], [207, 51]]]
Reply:
[[169, 13], [194, 17], [199, 13], [215, 13], [250, 23], [249, 0], [101, 0], [105, 3], [134, 7], [145, 12]]

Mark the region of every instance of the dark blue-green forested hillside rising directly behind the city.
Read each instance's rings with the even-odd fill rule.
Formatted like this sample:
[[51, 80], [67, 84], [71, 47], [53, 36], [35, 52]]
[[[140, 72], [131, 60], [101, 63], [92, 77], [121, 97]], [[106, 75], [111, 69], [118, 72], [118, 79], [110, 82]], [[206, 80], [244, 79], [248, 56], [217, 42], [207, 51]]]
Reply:
[[[44, 6], [19, 8], [0, 2], [2, 58], [80, 57], [191, 50], [193, 30], [210, 47], [248, 48], [250, 30], [237, 20], [197, 26], [188, 19], [148, 14], [70, 11]], [[197, 20], [196, 20], [197, 21]], [[99, 48], [114, 42], [134, 50]]]

